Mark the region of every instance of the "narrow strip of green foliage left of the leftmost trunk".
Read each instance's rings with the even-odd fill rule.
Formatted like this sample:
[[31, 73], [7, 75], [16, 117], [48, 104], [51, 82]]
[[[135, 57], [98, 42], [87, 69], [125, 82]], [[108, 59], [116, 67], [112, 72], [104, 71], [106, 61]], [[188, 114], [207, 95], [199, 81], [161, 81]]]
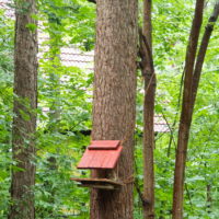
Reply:
[[0, 9], [0, 217], [7, 217], [10, 186], [13, 22]]

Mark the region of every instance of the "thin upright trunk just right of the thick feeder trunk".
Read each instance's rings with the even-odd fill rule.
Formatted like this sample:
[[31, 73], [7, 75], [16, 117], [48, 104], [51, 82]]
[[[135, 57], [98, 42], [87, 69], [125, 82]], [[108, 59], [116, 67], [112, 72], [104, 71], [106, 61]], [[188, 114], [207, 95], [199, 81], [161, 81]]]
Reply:
[[143, 205], [143, 218], [154, 218], [154, 172], [153, 172], [153, 149], [154, 149], [154, 99], [155, 99], [155, 73], [152, 60], [152, 24], [151, 24], [151, 0], [143, 2], [143, 31], [142, 34], [148, 42], [149, 48], [145, 46], [146, 60], [142, 64], [145, 77], [145, 103], [143, 103], [143, 197], [147, 201]]

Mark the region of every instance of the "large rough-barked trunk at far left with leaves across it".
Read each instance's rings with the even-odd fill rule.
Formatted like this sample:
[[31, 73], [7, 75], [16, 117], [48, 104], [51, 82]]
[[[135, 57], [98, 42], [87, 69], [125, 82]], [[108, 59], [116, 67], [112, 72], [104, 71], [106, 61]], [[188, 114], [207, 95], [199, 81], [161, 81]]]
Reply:
[[[12, 153], [16, 162], [12, 169], [10, 219], [34, 219], [35, 129], [37, 107], [37, 34], [32, 14], [34, 0], [16, 1], [14, 51], [14, 118]], [[30, 26], [30, 27], [27, 27]]]

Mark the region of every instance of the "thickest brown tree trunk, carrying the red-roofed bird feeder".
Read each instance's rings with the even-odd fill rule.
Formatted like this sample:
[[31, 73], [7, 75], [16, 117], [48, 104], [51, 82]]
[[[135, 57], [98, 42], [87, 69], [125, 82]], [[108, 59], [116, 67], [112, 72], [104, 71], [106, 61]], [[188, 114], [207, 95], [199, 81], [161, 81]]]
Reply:
[[120, 139], [124, 150], [116, 170], [92, 175], [117, 174], [125, 185], [113, 192], [93, 189], [91, 219], [132, 219], [137, 0], [97, 0], [96, 7], [92, 138]]

